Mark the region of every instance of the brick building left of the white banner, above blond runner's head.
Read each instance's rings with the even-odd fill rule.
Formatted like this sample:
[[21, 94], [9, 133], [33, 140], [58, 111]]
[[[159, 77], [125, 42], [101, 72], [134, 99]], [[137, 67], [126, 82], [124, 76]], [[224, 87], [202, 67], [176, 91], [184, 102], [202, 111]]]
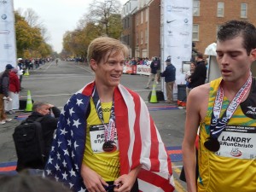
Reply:
[[130, 0], [122, 12], [121, 40], [131, 57], [160, 56], [160, 0]]

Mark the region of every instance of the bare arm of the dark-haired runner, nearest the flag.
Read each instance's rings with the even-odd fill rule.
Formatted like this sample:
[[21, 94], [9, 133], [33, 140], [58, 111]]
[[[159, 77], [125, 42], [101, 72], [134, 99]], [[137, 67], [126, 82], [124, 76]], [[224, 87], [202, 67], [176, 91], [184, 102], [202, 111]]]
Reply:
[[191, 90], [187, 101], [183, 139], [183, 165], [189, 192], [197, 191], [195, 178], [195, 137], [200, 121], [207, 113], [207, 86], [208, 84], [204, 84]]

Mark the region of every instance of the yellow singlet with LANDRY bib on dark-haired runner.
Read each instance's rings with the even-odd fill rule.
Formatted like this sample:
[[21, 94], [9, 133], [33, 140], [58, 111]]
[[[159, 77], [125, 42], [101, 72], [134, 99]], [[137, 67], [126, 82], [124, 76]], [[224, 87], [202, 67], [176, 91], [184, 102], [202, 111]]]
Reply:
[[[211, 82], [207, 116], [200, 125], [198, 191], [255, 192], [256, 119], [251, 115], [255, 113], [253, 94], [250, 93], [247, 100], [236, 108], [228, 125], [218, 137], [218, 152], [212, 153], [204, 147], [210, 133], [212, 108], [220, 81], [221, 79], [217, 79]], [[227, 108], [229, 103], [230, 101], [224, 97], [223, 108]], [[223, 108], [220, 117], [224, 113]]]

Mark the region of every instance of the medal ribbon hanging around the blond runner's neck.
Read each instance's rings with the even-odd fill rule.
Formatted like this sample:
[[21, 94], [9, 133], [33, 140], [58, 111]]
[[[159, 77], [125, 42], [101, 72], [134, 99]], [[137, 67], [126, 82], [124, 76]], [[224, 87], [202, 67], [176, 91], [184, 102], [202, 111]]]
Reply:
[[96, 87], [94, 88], [93, 93], [92, 93], [92, 100], [96, 107], [96, 112], [98, 114], [98, 117], [102, 121], [102, 124], [104, 125], [104, 128], [105, 128], [105, 130], [104, 130], [105, 142], [108, 142], [108, 141], [113, 142], [113, 136], [114, 136], [114, 131], [115, 131], [114, 102], [112, 102], [109, 122], [108, 122], [108, 125], [106, 125], [104, 123], [104, 118], [103, 118], [102, 104], [101, 104], [98, 92], [96, 90]]

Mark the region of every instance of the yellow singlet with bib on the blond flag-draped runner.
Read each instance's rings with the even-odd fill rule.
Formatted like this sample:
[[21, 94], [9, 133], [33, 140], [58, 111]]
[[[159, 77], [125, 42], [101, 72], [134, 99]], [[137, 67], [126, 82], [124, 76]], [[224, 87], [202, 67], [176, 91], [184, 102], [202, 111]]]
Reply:
[[[102, 103], [104, 123], [108, 125], [112, 102]], [[118, 145], [115, 132], [114, 142]], [[102, 151], [104, 143], [104, 126], [96, 113], [92, 98], [90, 98], [90, 115], [87, 119], [86, 143], [83, 163], [97, 172], [105, 181], [114, 181], [119, 177], [119, 149], [112, 153]]]

